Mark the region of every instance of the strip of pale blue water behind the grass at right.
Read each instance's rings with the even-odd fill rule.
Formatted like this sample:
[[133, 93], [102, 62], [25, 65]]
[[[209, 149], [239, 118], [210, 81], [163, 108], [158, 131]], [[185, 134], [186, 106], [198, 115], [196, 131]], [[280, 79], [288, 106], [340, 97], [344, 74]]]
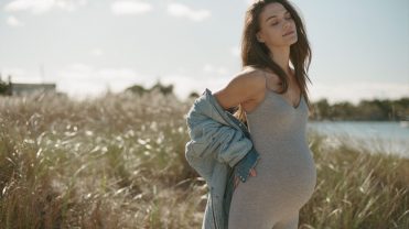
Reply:
[[409, 157], [409, 128], [399, 122], [309, 121], [308, 129], [327, 134], [333, 144], [346, 141], [354, 148], [373, 153]]

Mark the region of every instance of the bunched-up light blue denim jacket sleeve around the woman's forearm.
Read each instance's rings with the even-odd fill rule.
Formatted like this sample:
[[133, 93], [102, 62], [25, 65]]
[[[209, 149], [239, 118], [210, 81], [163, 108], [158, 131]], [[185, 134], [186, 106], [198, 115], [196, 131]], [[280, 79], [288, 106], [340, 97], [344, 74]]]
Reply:
[[187, 119], [190, 153], [195, 157], [212, 156], [234, 167], [251, 150], [252, 142], [233, 127], [211, 118]]

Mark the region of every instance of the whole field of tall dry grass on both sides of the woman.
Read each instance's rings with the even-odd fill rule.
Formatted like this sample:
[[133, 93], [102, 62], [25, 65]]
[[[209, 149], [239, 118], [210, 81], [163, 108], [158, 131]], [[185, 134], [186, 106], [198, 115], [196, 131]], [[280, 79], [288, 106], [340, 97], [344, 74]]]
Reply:
[[[192, 101], [147, 94], [0, 97], [0, 228], [200, 228], [187, 165]], [[316, 190], [300, 228], [408, 228], [409, 160], [309, 132]]]

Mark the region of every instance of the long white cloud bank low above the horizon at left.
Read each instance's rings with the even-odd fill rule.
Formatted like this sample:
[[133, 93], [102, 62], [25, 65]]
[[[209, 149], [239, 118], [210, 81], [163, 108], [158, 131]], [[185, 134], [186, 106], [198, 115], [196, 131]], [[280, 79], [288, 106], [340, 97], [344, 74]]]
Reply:
[[132, 68], [96, 68], [82, 63], [47, 72], [44, 77], [37, 69], [4, 67], [0, 73], [4, 81], [8, 81], [8, 76], [11, 75], [12, 83], [56, 84], [57, 91], [78, 99], [99, 96], [108, 88], [119, 92], [134, 84], [148, 87], [155, 83], [151, 75], [143, 75]]

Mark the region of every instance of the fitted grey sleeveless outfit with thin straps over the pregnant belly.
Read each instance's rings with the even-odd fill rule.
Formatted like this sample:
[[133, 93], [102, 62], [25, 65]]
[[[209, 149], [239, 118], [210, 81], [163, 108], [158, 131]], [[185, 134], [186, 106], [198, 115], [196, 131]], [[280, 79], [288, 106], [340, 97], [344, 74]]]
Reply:
[[267, 87], [263, 100], [246, 112], [252, 143], [260, 154], [257, 176], [233, 193], [230, 229], [297, 229], [300, 208], [316, 184], [315, 164], [306, 141], [308, 105], [293, 107]]

